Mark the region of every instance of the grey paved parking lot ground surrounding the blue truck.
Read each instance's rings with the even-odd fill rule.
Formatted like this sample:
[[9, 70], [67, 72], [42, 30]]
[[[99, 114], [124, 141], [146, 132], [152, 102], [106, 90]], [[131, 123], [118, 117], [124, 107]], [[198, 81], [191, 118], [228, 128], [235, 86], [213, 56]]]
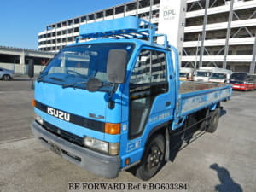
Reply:
[[[0, 191], [68, 190], [70, 182], [139, 182], [129, 172], [97, 177], [44, 148], [31, 137], [28, 81], [0, 82]], [[3, 88], [8, 88], [4, 90]], [[234, 91], [224, 102], [218, 130], [203, 134], [177, 154], [151, 183], [188, 183], [192, 192], [256, 191], [256, 91]], [[3, 110], [4, 109], [4, 110]]]

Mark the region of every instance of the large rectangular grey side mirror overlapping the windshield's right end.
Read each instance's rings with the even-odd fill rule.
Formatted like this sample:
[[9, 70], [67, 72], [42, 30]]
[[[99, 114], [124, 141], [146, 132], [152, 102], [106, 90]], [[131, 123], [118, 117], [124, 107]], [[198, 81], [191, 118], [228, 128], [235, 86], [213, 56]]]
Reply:
[[125, 81], [127, 51], [111, 49], [108, 53], [107, 78], [108, 82], [122, 84]]

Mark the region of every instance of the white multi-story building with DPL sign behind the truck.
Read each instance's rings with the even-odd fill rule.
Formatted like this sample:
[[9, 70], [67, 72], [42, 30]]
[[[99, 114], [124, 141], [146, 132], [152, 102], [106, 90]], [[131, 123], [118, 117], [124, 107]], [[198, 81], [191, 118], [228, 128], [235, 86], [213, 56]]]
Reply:
[[38, 34], [38, 49], [73, 44], [79, 26], [124, 16], [153, 22], [177, 46], [184, 67], [215, 66], [255, 73], [256, 0], [137, 0], [62, 20]]

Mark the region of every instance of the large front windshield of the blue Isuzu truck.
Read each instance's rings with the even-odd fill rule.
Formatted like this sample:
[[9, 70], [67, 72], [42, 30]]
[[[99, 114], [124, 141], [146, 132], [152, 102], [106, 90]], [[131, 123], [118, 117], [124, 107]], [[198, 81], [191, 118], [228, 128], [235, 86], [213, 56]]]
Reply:
[[[72, 84], [85, 89], [90, 79], [107, 82], [108, 53], [112, 49], [127, 51], [127, 62], [131, 57], [133, 44], [81, 44], [61, 49], [60, 53], [44, 69], [38, 81], [52, 84]], [[127, 64], [127, 63], [126, 63]], [[109, 83], [108, 83], [109, 84]]]

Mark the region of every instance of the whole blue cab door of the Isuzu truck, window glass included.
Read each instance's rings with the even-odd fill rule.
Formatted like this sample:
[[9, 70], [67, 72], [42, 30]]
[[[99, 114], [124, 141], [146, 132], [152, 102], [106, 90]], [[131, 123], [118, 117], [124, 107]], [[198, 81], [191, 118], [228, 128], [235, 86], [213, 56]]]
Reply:
[[[170, 52], [143, 47], [135, 61], [126, 84], [129, 102], [123, 107], [123, 115], [128, 116], [127, 132], [121, 137], [122, 159], [129, 157], [131, 163], [141, 159], [149, 132], [172, 119], [175, 103]], [[171, 62], [169, 67], [167, 61]]]

